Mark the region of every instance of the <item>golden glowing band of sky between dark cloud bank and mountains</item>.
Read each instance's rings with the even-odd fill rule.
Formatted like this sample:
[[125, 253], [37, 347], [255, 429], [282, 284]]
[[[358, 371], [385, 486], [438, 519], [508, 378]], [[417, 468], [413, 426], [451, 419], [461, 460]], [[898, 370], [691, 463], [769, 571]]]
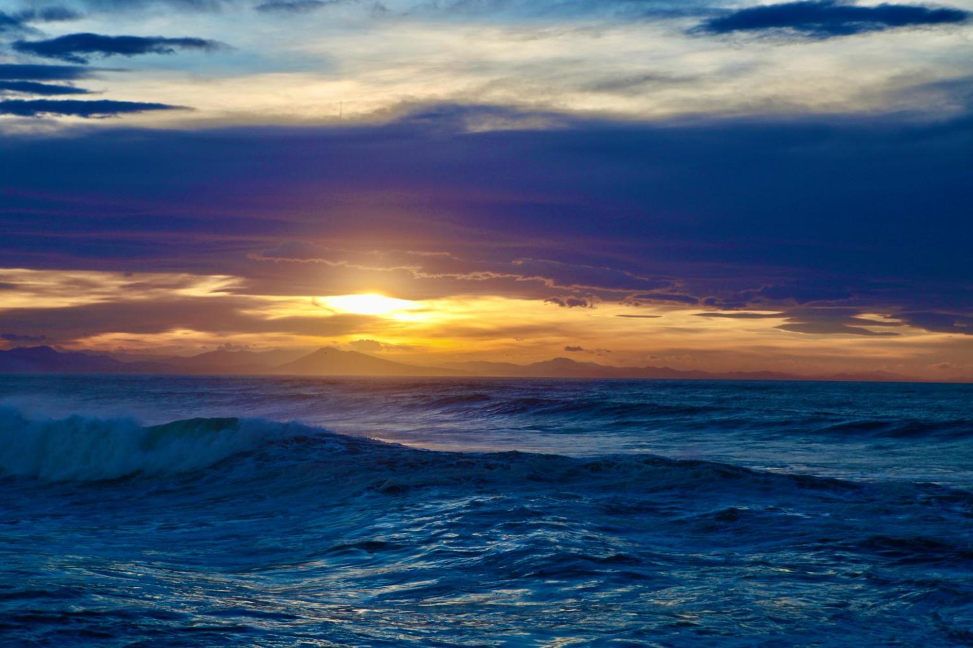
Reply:
[[[855, 336], [780, 329], [787, 319], [767, 317], [775, 313], [771, 310], [751, 311], [764, 317], [728, 318], [700, 317], [701, 308], [683, 305], [596, 302], [593, 308], [568, 308], [539, 297], [486, 294], [408, 300], [348, 292], [308, 298], [247, 293], [246, 281], [230, 275], [0, 269], [0, 282], [9, 284], [0, 313], [35, 309], [11, 314], [15, 322], [38, 321], [0, 331], [33, 337], [27, 343], [77, 350], [189, 355], [228, 343], [253, 350], [331, 345], [416, 365], [454, 360], [528, 364], [563, 355], [614, 366], [795, 374], [883, 370], [927, 378], [973, 367], [968, 339], [894, 326], [894, 318], [877, 312], [861, 313], [854, 323], [873, 335]], [[170, 318], [172, 303], [205, 309], [203, 314], [214, 318], [213, 328], [192, 309], [177, 310]], [[116, 306], [106, 311], [101, 330], [92, 330], [88, 318], [97, 310], [90, 308], [102, 304]], [[63, 322], [43, 314], [58, 308], [67, 309]], [[79, 323], [72, 324], [72, 308], [81, 309]], [[159, 326], [143, 317], [131, 328], [126, 308], [153, 313]], [[886, 331], [898, 335], [874, 335]], [[0, 342], [0, 347], [12, 345], [17, 342]]]

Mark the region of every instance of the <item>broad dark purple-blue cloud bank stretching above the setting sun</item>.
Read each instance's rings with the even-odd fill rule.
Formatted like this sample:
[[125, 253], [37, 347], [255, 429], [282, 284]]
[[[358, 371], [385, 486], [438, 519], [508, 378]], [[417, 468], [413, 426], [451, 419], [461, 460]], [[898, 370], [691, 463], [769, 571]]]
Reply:
[[384, 286], [410, 299], [629, 297], [787, 316], [847, 306], [847, 327], [882, 332], [848, 317], [912, 313], [916, 326], [967, 332], [971, 116], [471, 133], [461, 108], [444, 108], [444, 122], [435, 112], [382, 126], [5, 137], [0, 256], [234, 273], [268, 295]]

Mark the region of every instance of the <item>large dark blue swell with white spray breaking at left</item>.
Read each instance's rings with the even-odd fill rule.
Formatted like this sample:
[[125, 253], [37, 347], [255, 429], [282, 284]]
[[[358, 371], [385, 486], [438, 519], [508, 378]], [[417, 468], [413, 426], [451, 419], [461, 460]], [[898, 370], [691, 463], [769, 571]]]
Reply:
[[[0, 478], [105, 482], [189, 476], [221, 490], [245, 486], [271, 497], [303, 487], [342, 494], [418, 495], [428, 489], [473, 488], [680, 498], [734, 492], [765, 500], [787, 491], [815, 498], [869, 498], [876, 485], [803, 474], [772, 473], [703, 460], [649, 454], [576, 458], [521, 451], [417, 450], [335, 434], [294, 422], [256, 418], [190, 418], [140, 426], [130, 418], [72, 415], [31, 420], [0, 409]], [[214, 482], [214, 480], [216, 482]], [[230, 486], [234, 485], [234, 486]], [[973, 515], [973, 493], [943, 486], [890, 483], [881, 498], [934, 501]]]

